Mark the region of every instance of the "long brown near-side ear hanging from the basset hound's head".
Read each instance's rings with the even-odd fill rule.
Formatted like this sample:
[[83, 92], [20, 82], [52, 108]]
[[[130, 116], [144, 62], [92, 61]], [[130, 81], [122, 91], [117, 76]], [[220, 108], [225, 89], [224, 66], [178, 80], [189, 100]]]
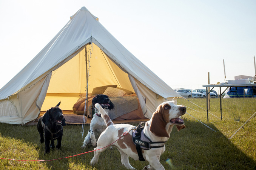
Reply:
[[[169, 112], [169, 110], [167, 110]], [[152, 121], [150, 125], [150, 131], [156, 135], [157, 137], [167, 137], [170, 138], [168, 135], [165, 127], [167, 125], [167, 121], [165, 118], [165, 110], [163, 106], [159, 106], [156, 112], [153, 113]]]

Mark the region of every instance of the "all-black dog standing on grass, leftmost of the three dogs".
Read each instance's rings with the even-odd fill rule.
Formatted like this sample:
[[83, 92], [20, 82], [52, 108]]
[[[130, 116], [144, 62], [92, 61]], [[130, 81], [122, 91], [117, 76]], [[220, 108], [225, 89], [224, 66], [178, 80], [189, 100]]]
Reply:
[[[45, 141], [45, 153], [48, 153], [51, 148], [55, 148], [54, 140], [57, 139], [57, 149], [60, 149], [63, 135], [63, 127], [66, 125], [66, 120], [63, 117], [62, 110], [59, 108], [60, 102], [56, 107], [52, 107], [37, 122], [37, 130], [40, 134], [40, 142]], [[45, 133], [45, 135], [43, 135]], [[51, 141], [51, 146], [50, 146]]]

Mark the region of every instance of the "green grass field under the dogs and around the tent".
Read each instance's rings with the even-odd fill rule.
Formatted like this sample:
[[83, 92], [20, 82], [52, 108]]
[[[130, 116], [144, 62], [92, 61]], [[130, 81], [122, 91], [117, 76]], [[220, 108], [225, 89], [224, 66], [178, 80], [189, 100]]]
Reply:
[[[174, 127], [165, 145], [160, 162], [165, 169], [175, 170], [255, 170], [256, 169], [256, 118], [251, 118], [229, 139], [255, 112], [256, 99], [222, 99], [222, 121], [219, 99], [211, 99], [209, 123], [207, 123], [206, 99], [178, 99], [178, 104], [187, 106], [184, 115], [186, 128], [177, 132]], [[194, 105], [193, 103], [196, 105]], [[200, 107], [201, 108], [200, 108]], [[203, 109], [202, 109], [203, 108]], [[205, 110], [204, 110], [205, 109]], [[193, 116], [193, 117], [192, 117]], [[196, 119], [197, 120], [196, 120]], [[212, 131], [204, 124], [211, 127]], [[134, 124], [135, 126], [137, 124]], [[85, 126], [85, 133], [89, 126]], [[64, 126], [61, 150], [44, 154], [44, 144], [36, 126], [19, 126], [0, 123], [0, 158], [24, 160], [51, 160], [84, 153], [94, 148], [81, 148], [82, 126]], [[85, 134], [85, 135], [86, 135]], [[55, 141], [56, 143], [57, 141]], [[108, 149], [100, 155], [94, 167], [89, 165], [93, 152], [56, 161], [14, 161], [0, 159], [0, 169], [11, 170], [123, 170], [120, 153]], [[169, 163], [166, 160], [169, 159]], [[130, 164], [142, 169], [147, 162]]]

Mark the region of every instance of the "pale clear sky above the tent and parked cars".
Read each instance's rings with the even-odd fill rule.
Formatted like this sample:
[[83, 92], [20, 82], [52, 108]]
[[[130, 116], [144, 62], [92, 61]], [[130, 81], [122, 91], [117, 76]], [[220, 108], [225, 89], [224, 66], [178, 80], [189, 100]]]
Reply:
[[172, 88], [255, 75], [256, 0], [1, 0], [0, 88], [83, 6]]

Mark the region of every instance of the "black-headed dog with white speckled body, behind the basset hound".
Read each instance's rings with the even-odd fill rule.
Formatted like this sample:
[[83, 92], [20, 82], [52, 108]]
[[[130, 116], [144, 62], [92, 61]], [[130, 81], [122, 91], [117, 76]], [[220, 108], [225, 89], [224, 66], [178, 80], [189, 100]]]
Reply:
[[[97, 96], [93, 97], [93, 100], [92, 100], [93, 109], [96, 103], [99, 103], [100, 106], [102, 106], [102, 108], [107, 113], [108, 113], [108, 110], [114, 109], [114, 104], [109, 100], [108, 96], [104, 94], [98, 94]], [[100, 112], [95, 113], [91, 120], [90, 129], [88, 131], [88, 134], [85, 137], [85, 140], [83, 141], [82, 147], [86, 147], [87, 144], [92, 144], [93, 146], [96, 146], [97, 140], [100, 134], [103, 131], [105, 131], [105, 129], [106, 129], [106, 123], [101, 117]]]

